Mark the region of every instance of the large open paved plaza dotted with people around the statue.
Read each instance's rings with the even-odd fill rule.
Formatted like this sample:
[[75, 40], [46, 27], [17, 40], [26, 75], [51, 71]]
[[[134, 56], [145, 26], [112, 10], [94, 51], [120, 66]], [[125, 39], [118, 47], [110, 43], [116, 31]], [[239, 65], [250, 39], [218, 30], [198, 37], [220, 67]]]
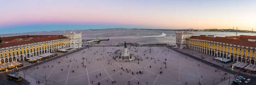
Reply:
[[[137, 84], [139, 81], [142, 85], [147, 83], [148, 85], [195, 85], [199, 80], [203, 85], [212, 85], [213, 79], [215, 79], [214, 84], [219, 84], [222, 83], [221, 78], [225, 77], [224, 73], [215, 72], [216, 68], [160, 46], [128, 46], [128, 51], [140, 60], [131, 62], [114, 60], [113, 57], [119, 55], [114, 52], [120, 50], [118, 51], [120, 53], [123, 49], [123, 46], [104, 46], [104, 49], [103, 46], [84, 48], [68, 56], [44, 62], [35, 69], [27, 69], [24, 72], [25, 79], [31, 80], [29, 82], [33, 84], [33, 82], [36, 83], [37, 78], [40, 80], [39, 84], [47, 83], [48, 85], [91, 85], [92, 81], [94, 85], [98, 82], [101, 85], [126, 85], [128, 81], [131, 81], [131, 84]], [[83, 57], [85, 57], [84, 61]], [[165, 58], [167, 59], [166, 68]], [[83, 62], [86, 67], [82, 67]], [[162, 74], [160, 74], [161, 70]], [[143, 74], [137, 74], [139, 71]], [[24, 77], [23, 71], [19, 73], [21, 77]], [[45, 82], [45, 75], [47, 82]]]

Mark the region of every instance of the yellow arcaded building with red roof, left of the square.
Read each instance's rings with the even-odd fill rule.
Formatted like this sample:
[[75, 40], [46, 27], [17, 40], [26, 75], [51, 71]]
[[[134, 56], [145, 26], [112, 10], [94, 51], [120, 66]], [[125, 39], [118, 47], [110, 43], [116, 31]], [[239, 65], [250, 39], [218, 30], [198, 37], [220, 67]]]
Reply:
[[21, 35], [1, 38], [0, 62], [21, 61], [27, 57], [70, 47], [70, 39], [62, 35]]

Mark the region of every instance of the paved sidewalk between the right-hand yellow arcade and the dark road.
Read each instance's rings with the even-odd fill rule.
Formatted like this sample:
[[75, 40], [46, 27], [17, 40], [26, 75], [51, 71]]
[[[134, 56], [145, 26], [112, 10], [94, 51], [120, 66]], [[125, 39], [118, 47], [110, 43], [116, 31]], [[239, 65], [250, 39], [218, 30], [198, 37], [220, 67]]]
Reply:
[[[230, 69], [230, 70], [233, 70], [235, 72], [238, 72], [239, 73], [239, 69], [235, 69], [235, 68], [230, 68], [232, 64], [236, 63], [236, 62], [230, 62], [228, 64], [224, 64], [224, 63], [219, 63], [219, 62], [216, 62], [214, 61], [213, 59], [216, 58], [215, 56], [211, 56], [211, 55], [208, 55], [208, 54], [205, 54], [205, 53], [202, 53], [202, 52], [198, 52], [198, 51], [194, 51], [194, 50], [190, 50], [189, 49], [178, 49], [178, 51], [181, 51], [181, 52], [184, 52], [184, 53], [187, 53], [189, 55], [192, 55], [192, 56], [195, 56], [195, 57], [198, 57], [202, 60], [205, 60], [205, 61], [208, 61], [208, 62], [211, 62], [211, 63], [214, 63], [214, 64], [217, 64], [217, 65], [224, 65], [224, 68], [227, 68], [227, 69]], [[205, 58], [202, 58], [201, 56], [205, 57]], [[228, 68], [229, 66], [229, 68]], [[220, 71], [220, 69], [219, 69]], [[245, 72], [243, 74], [247, 74], [247, 75], [251, 75], [251, 76], [254, 76], [256, 77], [256, 74], [252, 73], [248, 73], [248, 72]]]

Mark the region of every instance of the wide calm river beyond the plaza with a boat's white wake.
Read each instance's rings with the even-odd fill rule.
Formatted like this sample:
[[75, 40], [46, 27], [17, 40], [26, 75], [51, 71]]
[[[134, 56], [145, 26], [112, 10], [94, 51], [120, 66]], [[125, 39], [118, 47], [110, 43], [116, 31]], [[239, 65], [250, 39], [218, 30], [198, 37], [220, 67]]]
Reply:
[[[78, 31], [76, 31], [77, 33]], [[70, 33], [70, 32], [65, 32]], [[80, 31], [78, 32], [80, 33]], [[162, 34], [164, 33], [164, 34]], [[56, 32], [34, 32], [34, 33], [20, 33], [7, 34], [3, 36], [17, 36], [17, 35], [63, 35], [63, 31]], [[235, 32], [194, 32], [194, 35], [216, 35], [216, 36], [235, 36]], [[238, 35], [256, 35], [255, 33], [238, 33]], [[101, 44], [112, 44], [126, 42], [137, 42], [139, 44], [153, 44], [165, 43], [174, 45], [175, 31], [164, 30], [96, 30], [96, 31], [82, 31], [82, 39], [110, 39], [109, 41], [101, 41]]]

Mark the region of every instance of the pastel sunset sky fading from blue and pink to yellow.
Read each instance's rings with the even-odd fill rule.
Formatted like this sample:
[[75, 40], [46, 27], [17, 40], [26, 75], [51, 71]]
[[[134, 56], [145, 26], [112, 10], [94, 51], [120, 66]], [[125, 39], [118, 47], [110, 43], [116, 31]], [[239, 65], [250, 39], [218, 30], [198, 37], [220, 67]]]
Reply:
[[1, 0], [0, 34], [105, 28], [256, 30], [255, 0]]

